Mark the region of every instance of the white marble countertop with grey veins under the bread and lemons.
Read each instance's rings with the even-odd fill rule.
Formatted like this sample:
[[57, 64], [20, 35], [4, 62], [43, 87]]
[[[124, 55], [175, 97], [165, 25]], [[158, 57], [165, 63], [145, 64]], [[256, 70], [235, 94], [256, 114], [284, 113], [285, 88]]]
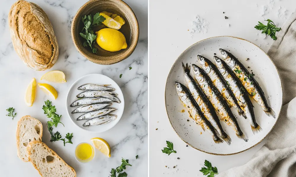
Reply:
[[[127, 167], [128, 176], [147, 176], [148, 168], [148, 1], [125, 0], [135, 12], [139, 25], [139, 43], [133, 54], [114, 65], [97, 65], [83, 58], [73, 45], [70, 27], [73, 16], [87, 0], [31, 0], [38, 4], [48, 15], [59, 44], [57, 63], [47, 71], [34, 71], [28, 68], [18, 57], [12, 46], [7, 16], [15, 0], [3, 0], [0, 6], [0, 171], [4, 176], [39, 176], [31, 163], [22, 162], [17, 157], [15, 131], [17, 121], [25, 115], [39, 119], [44, 127], [43, 142], [57, 152], [70, 166], [75, 168], [77, 176], [109, 176], [111, 168], [121, 164], [121, 158], [129, 159], [132, 167]], [[132, 67], [129, 70], [129, 67]], [[59, 96], [56, 100], [46, 96], [37, 88], [36, 100], [32, 107], [24, 102], [25, 89], [34, 77], [37, 82], [41, 76], [51, 70], [63, 71], [67, 82], [52, 84]], [[112, 78], [123, 91], [125, 111], [118, 124], [103, 133], [88, 133], [71, 122], [66, 113], [65, 99], [71, 84], [81, 76], [100, 73]], [[122, 78], [119, 78], [119, 75]], [[61, 141], [49, 142], [50, 135], [46, 128], [49, 120], [42, 110], [45, 100], [51, 100], [62, 115], [61, 122], [65, 128], [58, 126], [55, 130], [62, 135], [73, 132], [73, 145], [63, 146]], [[12, 120], [5, 116], [5, 109], [14, 107], [17, 117]], [[78, 163], [74, 157], [75, 146], [80, 142], [90, 142], [93, 137], [107, 140], [111, 146], [111, 158], [99, 151], [93, 161], [87, 164]], [[91, 143], [91, 142], [90, 142]], [[136, 159], [136, 155], [139, 158]]]

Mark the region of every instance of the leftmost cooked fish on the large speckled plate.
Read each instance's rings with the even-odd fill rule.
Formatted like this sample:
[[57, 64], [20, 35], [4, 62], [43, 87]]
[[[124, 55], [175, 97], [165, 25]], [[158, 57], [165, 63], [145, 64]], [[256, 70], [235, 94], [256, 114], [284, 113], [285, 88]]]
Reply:
[[223, 141], [216, 135], [214, 127], [205, 118], [202, 111], [200, 110], [200, 107], [197, 105], [187, 87], [179, 82], [176, 82], [176, 90], [179, 98], [188, 109], [190, 117], [194, 119], [203, 130], [207, 129], [207, 131], [212, 135], [215, 143], [222, 143]]

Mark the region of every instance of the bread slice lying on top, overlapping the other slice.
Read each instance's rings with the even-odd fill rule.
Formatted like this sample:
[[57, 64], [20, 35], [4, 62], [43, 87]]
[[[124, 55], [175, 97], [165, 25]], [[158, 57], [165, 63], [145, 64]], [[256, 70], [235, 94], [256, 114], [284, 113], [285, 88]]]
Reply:
[[32, 141], [27, 146], [29, 160], [43, 177], [76, 177], [74, 168], [44, 142]]

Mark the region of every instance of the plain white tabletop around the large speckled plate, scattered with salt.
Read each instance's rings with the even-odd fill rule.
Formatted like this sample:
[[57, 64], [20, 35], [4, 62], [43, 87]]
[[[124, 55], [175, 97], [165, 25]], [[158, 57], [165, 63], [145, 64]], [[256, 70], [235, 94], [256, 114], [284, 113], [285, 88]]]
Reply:
[[[273, 5], [272, 5], [273, 4]], [[261, 9], [267, 5], [268, 12], [261, 16]], [[272, 9], [271, 9], [272, 7]], [[287, 9], [286, 15], [278, 18]], [[285, 18], [295, 11], [296, 1], [292, 0], [225, 0], [225, 1], [149, 1], [149, 175], [160, 177], [203, 176], [199, 172], [206, 160], [225, 171], [242, 165], [263, 145], [265, 140], [254, 148], [230, 156], [210, 155], [194, 148], [186, 147], [170, 125], [164, 102], [165, 83], [170, 68], [178, 56], [190, 45], [208, 37], [230, 35], [241, 37], [267, 52], [272, 39], [256, 30], [254, 26], [263, 19], [273, 20], [282, 27]], [[223, 14], [225, 12], [225, 14]], [[207, 33], [188, 30], [196, 15], [209, 22]], [[224, 17], [229, 17], [225, 19]], [[228, 26], [228, 24], [230, 24]], [[257, 35], [258, 34], [258, 35]], [[264, 39], [265, 38], [265, 39]], [[268, 44], [267, 44], [268, 43]], [[158, 122], [158, 123], [157, 123]], [[155, 130], [157, 128], [157, 130]], [[163, 154], [165, 141], [174, 143], [176, 154]], [[177, 159], [179, 157], [180, 159]], [[167, 165], [169, 168], [165, 168]], [[177, 165], [176, 168], [173, 168]]]

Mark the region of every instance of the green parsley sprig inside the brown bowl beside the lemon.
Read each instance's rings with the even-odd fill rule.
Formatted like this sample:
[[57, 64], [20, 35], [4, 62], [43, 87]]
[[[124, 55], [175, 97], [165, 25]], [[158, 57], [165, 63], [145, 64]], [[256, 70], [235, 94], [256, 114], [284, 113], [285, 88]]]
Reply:
[[100, 15], [100, 13], [94, 14], [94, 16], [84, 15], [84, 17], [81, 17], [81, 20], [84, 24], [82, 32], [80, 33], [80, 36], [83, 37], [86, 41], [83, 42], [84, 47], [91, 47], [91, 50], [93, 53], [97, 53], [97, 48], [94, 47], [94, 41], [96, 40], [96, 35], [94, 34], [94, 31], [92, 30], [93, 27], [102, 25], [102, 22], [104, 22], [106, 18]]

